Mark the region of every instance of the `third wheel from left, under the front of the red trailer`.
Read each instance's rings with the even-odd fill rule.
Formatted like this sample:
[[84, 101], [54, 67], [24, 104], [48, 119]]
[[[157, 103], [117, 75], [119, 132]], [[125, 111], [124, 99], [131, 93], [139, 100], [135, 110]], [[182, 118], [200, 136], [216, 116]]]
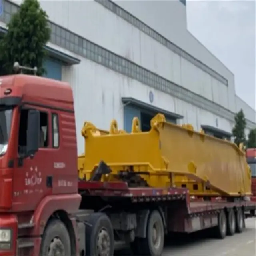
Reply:
[[157, 210], [151, 212], [148, 218], [146, 238], [141, 238], [140, 240], [140, 255], [162, 255], [164, 249], [164, 224], [162, 216]]

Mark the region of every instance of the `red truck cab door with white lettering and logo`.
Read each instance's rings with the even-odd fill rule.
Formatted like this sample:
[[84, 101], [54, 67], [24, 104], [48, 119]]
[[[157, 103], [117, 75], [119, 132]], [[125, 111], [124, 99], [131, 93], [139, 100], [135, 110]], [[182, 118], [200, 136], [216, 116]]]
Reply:
[[14, 168], [13, 206], [19, 204], [19, 209], [33, 210], [38, 202], [52, 188], [47, 183], [48, 172], [52, 169], [50, 145], [50, 113], [44, 108], [33, 108], [40, 112], [40, 148], [33, 157], [23, 157], [26, 152], [28, 110], [32, 107], [22, 107], [18, 134], [18, 163]]

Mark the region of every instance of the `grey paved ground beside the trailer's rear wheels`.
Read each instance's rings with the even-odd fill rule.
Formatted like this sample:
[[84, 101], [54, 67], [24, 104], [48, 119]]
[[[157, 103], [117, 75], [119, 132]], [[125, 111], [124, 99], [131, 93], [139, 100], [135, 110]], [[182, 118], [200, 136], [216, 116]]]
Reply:
[[[163, 255], [256, 255], [256, 219], [246, 220], [242, 234], [227, 236], [224, 240], [207, 237], [204, 232], [189, 236], [166, 238]], [[168, 239], [168, 240], [167, 240]], [[132, 255], [129, 249], [116, 251], [116, 255]]]

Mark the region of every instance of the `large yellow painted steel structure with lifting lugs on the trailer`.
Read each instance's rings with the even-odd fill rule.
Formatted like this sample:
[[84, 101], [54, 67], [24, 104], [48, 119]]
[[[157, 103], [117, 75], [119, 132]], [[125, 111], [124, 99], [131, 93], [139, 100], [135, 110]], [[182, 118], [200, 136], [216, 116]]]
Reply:
[[187, 187], [191, 194], [202, 196], [251, 194], [250, 168], [242, 145], [238, 148], [203, 130], [196, 132], [190, 124], [168, 123], [162, 114], [152, 118], [149, 132], [140, 131], [135, 117], [131, 133], [118, 130], [112, 120], [105, 133], [85, 122], [82, 136], [86, 154], [78, 158], [83, 164], [80, 178], [90, 179], [103, 160], [112, 173], [103, 175], [102, 181], [118, 180], [120, 171], [129, 171], [139, 172], [151, 187]]

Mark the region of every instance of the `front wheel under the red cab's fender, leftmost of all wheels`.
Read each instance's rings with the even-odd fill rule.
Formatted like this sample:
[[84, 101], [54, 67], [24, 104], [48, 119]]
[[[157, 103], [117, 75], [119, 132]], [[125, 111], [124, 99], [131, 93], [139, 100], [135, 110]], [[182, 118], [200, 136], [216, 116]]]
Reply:
[[71, 255], [71, 242], [68, 230], [58, 219], [48, 222], [41, 241], [40, 255]]

